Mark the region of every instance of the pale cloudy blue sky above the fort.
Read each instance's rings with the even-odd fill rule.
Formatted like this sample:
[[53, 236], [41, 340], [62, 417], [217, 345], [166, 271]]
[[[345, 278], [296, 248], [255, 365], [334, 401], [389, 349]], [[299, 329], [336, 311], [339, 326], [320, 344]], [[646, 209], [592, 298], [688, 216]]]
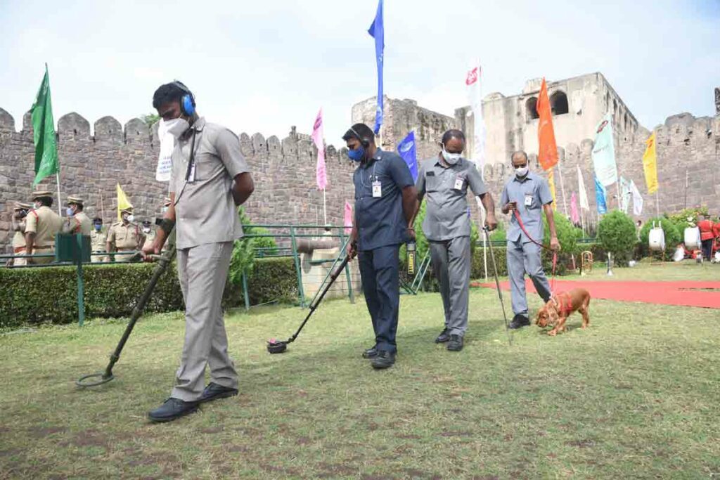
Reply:
[[[0, 0], [0, 107], [21, 127], [50, 68], [55, 121], [78, 112], [121, 123], [152, 110], [174, 78], [209, 121], [235, 132], [309, 133], [341, 144], [356, 101], [377, 88], [376, 0]], [[467, 104], [471, 58], [483, 91], [517, 94], [528, 78], [602, 72], [645, 127], [714, 115], [720, 0], [385, 0], [385, 94], [452, 114]]]

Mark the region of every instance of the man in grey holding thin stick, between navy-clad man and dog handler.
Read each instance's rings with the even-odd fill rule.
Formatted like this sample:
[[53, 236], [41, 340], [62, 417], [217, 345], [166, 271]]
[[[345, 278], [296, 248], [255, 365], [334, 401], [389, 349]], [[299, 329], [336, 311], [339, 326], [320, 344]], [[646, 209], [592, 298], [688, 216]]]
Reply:
[[423, 232], [430, 244], [433, 275], [440, 282], [445, 312], [445, 328], [435, 341], [447, 342], [450, 351], [460, 351], [467, 331], [472, 266], [468, 188], [482, 200], [487, 211], [485, 225], [493, 230], [498, 221], [495, 219], [495, 202], [487, 192], [480, 172], [473, 163], [462, 158], [463, 132], [448, 130], [441, 146], [441, 153], [420, 165], [416, 183], [420, 200], [418, 210], [423, 197], [427, 196]]

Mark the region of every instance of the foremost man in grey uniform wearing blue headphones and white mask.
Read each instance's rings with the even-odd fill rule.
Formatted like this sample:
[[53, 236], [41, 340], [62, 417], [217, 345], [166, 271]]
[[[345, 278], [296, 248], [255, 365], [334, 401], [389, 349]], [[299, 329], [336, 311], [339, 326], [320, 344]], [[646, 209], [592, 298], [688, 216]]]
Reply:
[[[254, 186], [238, 137], [199, 117], [186, 86], [179, 81], [160, 86], [153, 107], [177, 142], [171, 156], [171, 201], [155, 242], [143, 252], [160, 253], [176, 230], [185, 300], [185, 344], [175, 387], [166, 402], [148, 413], [150, 420], [168, 422], [195, 412], [202, 402], [238, 394], [220, 301], [233, 243], [243, 236], [237, 206], [251, 196]], [[206, 365], [211, 381], [203, 389]]]

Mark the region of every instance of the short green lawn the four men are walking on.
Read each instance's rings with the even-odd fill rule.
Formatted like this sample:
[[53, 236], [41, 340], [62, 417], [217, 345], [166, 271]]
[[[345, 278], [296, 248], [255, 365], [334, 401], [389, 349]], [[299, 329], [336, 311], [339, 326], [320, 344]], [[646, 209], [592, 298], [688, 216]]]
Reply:
[[[617, 277], [644, 268], [677, 274]], [[533, 326], [508, 346], [496, 292], [470, 301], [466, 348], [449, 353], [433, 343], [440, 297], [402, 296], [387, 371], [360, 358], [362, 302], [323, 304], [277, 356], [265, 340], [306, 311], [230, 313], [240, 395], [166, 425], [145, 414], [171, 389], [181, 314], [141, 320], [117, 379], [95, 389], [73, 382], [104, 368], [124, 321], [0, 335], [0, 478], [720, 475], [718, 310], [597, 300], [588, 330], [573, 316], [557, 338]]]

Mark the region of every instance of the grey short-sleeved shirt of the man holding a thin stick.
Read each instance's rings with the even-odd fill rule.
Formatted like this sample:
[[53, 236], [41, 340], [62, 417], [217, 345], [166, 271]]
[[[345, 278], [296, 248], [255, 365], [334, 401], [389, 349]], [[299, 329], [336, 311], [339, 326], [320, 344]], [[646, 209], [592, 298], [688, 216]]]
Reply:
[[418, 196], [427, 196], [423, 232], [428, 240], [440, 242], [470, 236], [467, 188], [475, 195], [487, 193], [474, 163], [460, 158], [449, 168], [440, 163], [439, 155], [420, 163]]

